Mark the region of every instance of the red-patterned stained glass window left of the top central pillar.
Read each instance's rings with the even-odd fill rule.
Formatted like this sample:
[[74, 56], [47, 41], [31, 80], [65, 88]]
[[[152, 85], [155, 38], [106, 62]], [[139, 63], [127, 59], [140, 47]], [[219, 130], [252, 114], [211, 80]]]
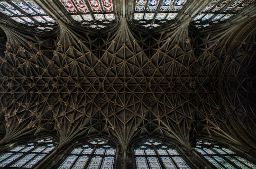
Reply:
[[96, 29], [107, 27], [115, 20], [112, 0], [60, 0], [74, 21]]

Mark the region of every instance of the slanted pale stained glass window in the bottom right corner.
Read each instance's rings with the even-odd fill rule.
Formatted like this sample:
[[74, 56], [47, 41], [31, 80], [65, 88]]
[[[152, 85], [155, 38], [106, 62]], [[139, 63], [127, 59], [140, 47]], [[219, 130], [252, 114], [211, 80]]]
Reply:
[[256, 164], [240, 157], [234, 151], [211, 142], [197, 141], [195, 150], [218, 169], [256, 168]]

